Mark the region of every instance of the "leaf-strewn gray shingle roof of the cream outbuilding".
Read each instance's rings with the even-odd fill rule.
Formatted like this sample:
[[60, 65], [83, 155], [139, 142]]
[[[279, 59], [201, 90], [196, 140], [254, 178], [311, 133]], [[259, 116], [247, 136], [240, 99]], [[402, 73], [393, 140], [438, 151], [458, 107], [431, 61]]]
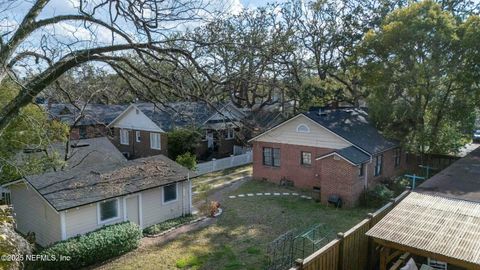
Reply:
[[183, 181], [193, 173], [163, 155], [99, 163], [25, 179], [57, 211]]

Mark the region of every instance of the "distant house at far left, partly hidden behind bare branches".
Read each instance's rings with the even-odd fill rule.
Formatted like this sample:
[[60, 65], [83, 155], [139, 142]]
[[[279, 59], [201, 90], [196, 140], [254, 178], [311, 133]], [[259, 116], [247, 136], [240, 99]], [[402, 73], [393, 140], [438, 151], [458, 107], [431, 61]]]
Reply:
[[[83, 104], [79, 104], [83, 108]], [[51, 119], [59, 120], [71, 127], [70, 139], [88, 139], [109, 135], [110, 124], [127, 105], [87, 104], [83, 112], [68, 103], [49, 103], [44, 105]], [[80, 120], [75, 123], [75, 119]]]

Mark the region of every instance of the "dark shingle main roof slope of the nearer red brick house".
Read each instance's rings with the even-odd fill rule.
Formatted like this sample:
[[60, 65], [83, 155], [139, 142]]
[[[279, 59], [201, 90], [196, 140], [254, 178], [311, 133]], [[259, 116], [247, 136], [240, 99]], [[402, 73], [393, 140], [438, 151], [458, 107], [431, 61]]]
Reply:
[[368, 122], [368, 114], [364, 110], [340, 108], [326, 111], [324, 115], [313, 110], [303, 114], [370, 154], [398, 146], [398, 142], [385, 139]]

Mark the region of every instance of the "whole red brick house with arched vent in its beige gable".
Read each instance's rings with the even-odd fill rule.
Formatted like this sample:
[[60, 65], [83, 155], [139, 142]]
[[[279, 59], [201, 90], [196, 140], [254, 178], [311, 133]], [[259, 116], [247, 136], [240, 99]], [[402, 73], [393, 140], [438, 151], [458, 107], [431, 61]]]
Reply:
[[253, 177], [293, 183], [347, 206], [380, 180], [399, 173], [405, 155], [385, 139], [364, 110], [318, 109], [298, 114], [251, 140]]

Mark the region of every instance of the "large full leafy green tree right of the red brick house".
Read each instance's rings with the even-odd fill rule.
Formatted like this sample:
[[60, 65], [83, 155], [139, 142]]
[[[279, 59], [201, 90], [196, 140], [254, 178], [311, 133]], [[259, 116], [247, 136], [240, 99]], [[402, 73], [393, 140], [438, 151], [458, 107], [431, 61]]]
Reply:
[[477, 17], [464, 23], [422, 1], [391, 12], [366, 34], [370, 115], [409, 150], [452, 153], [469, 140], [479, 91], [475, 26]]

